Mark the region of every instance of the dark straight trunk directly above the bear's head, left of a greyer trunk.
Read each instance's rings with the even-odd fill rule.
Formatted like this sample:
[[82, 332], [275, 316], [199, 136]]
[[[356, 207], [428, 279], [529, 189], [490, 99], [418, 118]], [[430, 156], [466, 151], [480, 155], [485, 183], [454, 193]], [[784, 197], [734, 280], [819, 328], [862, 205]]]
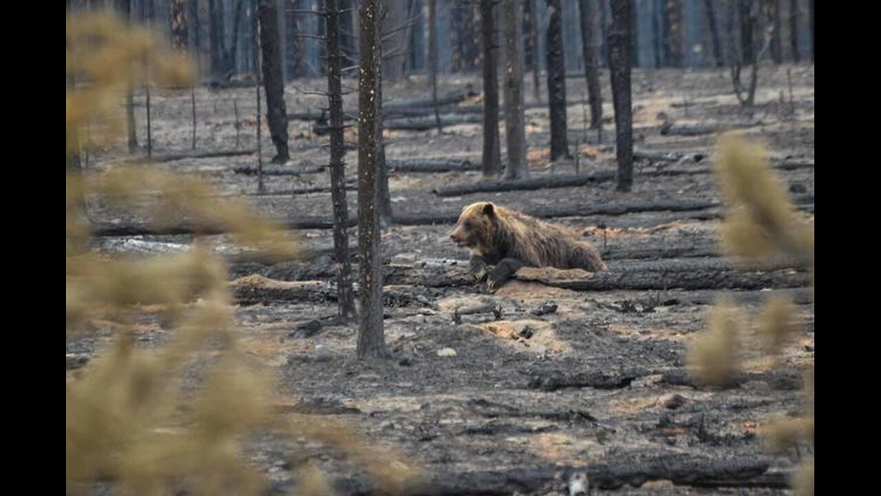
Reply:
[[[434, 3], [434, 0], [429, 0]], [[499, 142], [499, 75], [496, 72], [495, 8], [493, 0], [480, 0], [480, 34], [483, 42], [484, 65], [484, 177], [498, 176], [501, 172], [501, 144]], [[437, 107], [435, 106], [435, 115]], [[440, 117], [436, 117], [439, 121]]]

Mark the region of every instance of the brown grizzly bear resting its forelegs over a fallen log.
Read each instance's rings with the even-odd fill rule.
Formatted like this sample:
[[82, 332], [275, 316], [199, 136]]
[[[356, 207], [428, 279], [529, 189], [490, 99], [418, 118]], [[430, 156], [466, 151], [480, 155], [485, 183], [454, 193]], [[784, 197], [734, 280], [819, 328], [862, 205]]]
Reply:
[[[606, 268], [593, 245], [563, 229], [488, 201], [464, 207], [449, 237], [471, 254], [470, 272], [499, 288], [520, 267]], [[487, 266], [494, 265], [492, 272]]]

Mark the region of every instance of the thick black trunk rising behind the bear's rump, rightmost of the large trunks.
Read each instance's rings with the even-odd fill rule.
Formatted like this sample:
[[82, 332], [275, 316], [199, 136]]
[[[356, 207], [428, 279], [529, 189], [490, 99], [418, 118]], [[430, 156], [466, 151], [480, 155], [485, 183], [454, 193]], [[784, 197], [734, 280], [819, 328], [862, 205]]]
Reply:
[[633, 0], [611, 1], [609, 70], [615, 107], [615, 151], [618, 155], [619, 192], [633, 187], [633, 108], [630, 86], [630, 18]]

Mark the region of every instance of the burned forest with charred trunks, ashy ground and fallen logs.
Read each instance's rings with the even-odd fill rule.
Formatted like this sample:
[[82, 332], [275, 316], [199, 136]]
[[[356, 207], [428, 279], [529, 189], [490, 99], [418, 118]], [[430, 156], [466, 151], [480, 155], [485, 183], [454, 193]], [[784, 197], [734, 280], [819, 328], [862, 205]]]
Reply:
[[68, 0], [67, 493], [812, 496], [813, 18]]

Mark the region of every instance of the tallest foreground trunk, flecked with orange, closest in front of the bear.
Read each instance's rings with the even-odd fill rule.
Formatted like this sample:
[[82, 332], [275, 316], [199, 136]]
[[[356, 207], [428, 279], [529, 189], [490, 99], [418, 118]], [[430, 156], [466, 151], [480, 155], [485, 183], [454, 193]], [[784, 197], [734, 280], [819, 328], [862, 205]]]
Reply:
[[361, 251], [359, 358], [389, 357], [382, 329], [382, 267], [379, 210], [376, 205], [376, 86], [381, 71], [378, 0], [362, 0], [358, 119], [358, 243]]

